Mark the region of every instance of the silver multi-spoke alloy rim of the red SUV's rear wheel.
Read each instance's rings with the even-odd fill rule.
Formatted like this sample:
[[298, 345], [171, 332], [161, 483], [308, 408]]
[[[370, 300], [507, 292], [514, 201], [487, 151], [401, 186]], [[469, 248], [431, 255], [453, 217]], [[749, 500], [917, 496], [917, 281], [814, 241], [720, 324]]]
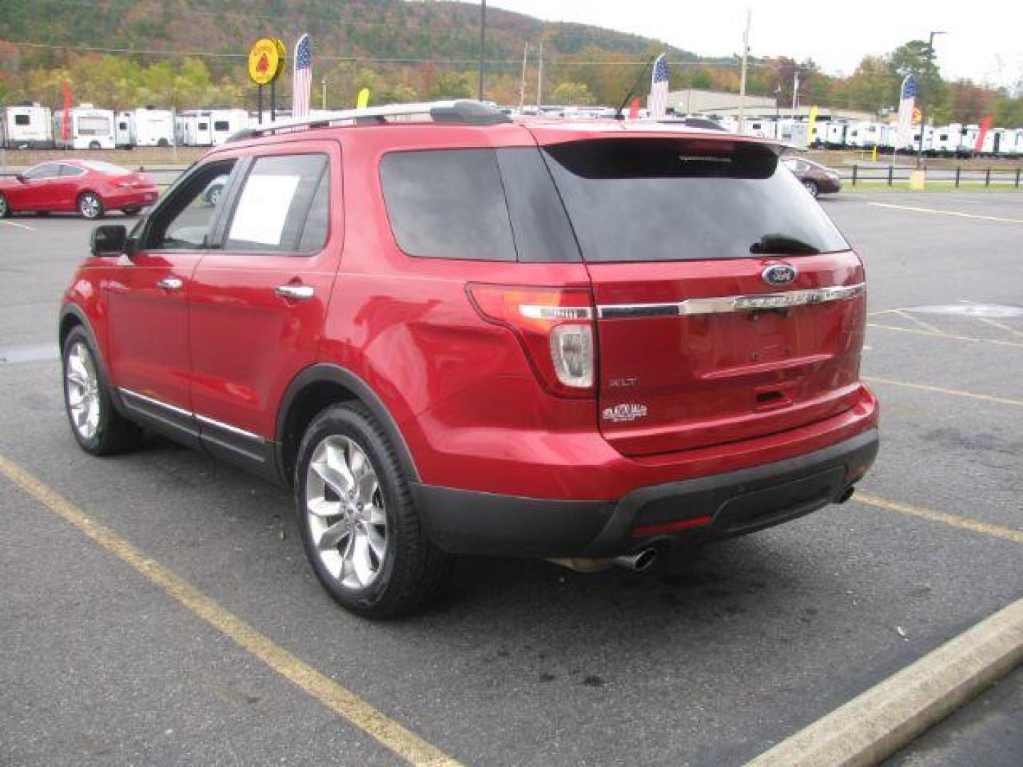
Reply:
[[325, 437], [306, 472], [305, 511], [315, 555], [338, 583], [364, 589], [388, 550], [387, 511], [376, 471], [352, 439]]

